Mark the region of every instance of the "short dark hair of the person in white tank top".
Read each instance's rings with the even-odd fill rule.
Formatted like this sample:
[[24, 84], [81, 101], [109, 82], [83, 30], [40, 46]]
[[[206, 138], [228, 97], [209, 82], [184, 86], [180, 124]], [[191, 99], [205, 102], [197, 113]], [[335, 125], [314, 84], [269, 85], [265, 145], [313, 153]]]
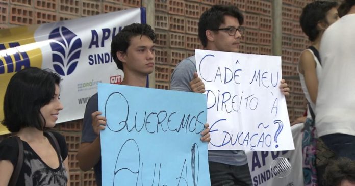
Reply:
[[318, 22], [325, 20], [326, 13], [332, 8], [336, 8], [337, 5], [337, 2], [314, 1], [303, 8], [299, 23], [310, 41], [315, 41], [319, 35]]

